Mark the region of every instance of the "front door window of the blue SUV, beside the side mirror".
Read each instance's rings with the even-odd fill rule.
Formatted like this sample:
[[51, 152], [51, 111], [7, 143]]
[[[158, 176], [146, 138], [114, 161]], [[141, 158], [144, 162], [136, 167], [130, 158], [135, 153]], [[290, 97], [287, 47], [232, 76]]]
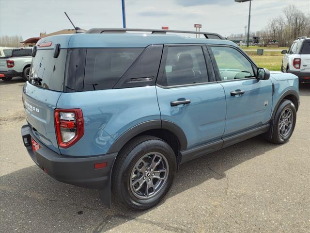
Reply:
[[219, 69], [221, 80], [234, 80], [254, 77], [252, 64], [238, 50], [230, 47], [210, 47], [217, 67]]

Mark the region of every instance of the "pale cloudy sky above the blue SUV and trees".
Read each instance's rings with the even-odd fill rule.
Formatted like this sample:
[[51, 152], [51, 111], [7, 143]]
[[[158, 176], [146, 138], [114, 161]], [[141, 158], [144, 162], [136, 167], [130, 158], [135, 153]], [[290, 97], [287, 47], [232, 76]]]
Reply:
[[[263, 29], [289, 4], [310, 12], [310, 0], [252, 0], [250, 31]], [[198, 23], [203, 32], [229, 36], [245, 32], [248, 8], [234, 0], [125, 0], [126, 27], [195, 31]], [[64, 11], [82, 29], [123, 27], [121, 0], [1, 0], [0, 35], [27, 39], [71, 29]]]

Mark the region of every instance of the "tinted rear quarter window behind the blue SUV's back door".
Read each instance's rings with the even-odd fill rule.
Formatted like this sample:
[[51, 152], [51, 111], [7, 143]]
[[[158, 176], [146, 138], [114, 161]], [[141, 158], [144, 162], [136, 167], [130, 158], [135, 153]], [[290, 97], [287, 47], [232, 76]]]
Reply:
[[113, 88], [142, 50], [141, 48], [87, 49], [84, 90]]

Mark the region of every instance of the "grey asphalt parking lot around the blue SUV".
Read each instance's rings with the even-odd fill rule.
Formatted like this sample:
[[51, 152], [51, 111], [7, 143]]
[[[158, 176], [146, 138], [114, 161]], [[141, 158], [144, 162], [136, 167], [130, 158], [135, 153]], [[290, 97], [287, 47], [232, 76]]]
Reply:
[[310, 232], [310, 85], [300, 86], [294, 135], [255, 137], [180, 167], [165, 200], [144, 212], [59, 183], [22, 145], [23, 82], [0, 81], [0, 232]]

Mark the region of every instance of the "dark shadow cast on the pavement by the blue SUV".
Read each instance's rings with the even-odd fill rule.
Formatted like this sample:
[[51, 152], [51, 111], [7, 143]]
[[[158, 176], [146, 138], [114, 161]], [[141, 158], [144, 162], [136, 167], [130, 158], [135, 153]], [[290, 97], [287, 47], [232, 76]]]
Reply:
[[[224, 179], [227, 170], [276, 147], [258, 136], [190, 161], [180, 166], [171, 190], [159, 205], [209, 179]], [[10, 226], [12, 231], [27, 225], [27, 231], [32, 232], [40, 232], [42, 226], [55, 232], [106, 232], [133, 219], [143, 223], [143, 218], [137, 217], [148, 212], [128, 210], [116, 200], [108, 209], [101, 205], [99, 191], [57, 182], [37, 166], [4, 175], [0, 180], [0, 225]], [[170, 230], [180, 232], [173, 227]]]

